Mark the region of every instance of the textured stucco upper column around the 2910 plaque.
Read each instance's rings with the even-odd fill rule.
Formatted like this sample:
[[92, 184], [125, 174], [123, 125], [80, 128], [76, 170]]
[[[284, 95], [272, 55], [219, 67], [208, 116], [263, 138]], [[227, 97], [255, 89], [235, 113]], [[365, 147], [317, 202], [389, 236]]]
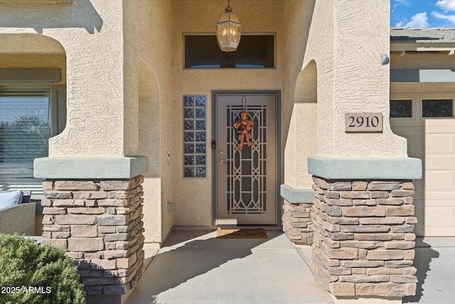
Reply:
[[[318, 67], [318, 155], [405, 157], [406, 141], [389, 124], [390, 2], [316, 1], [304, 66]], [[372, 26], [374, 24], [374, 26]], [[345, 112], [382, 112], [382, 134], [346, 134]]]

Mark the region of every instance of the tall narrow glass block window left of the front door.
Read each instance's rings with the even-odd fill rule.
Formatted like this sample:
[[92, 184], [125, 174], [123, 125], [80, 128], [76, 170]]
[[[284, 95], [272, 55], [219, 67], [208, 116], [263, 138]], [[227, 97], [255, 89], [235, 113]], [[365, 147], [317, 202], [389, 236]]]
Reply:
[[206, 97], [183, 95], [183, 177], [206, 177]]

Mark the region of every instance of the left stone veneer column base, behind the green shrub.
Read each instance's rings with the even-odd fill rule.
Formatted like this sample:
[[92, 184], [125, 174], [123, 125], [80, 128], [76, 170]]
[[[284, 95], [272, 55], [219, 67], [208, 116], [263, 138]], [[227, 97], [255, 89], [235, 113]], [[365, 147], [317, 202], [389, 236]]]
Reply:
[[[141, 175], [46, 179], [43, 240], [78, 266], [87, 295], [124, 295], [144, 272]], [[88, 298], [87, 298], [87, 301]]]

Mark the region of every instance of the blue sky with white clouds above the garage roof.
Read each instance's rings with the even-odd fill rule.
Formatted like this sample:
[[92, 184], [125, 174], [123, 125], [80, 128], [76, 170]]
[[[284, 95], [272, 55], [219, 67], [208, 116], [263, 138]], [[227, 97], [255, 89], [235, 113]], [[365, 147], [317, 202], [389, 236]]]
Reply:
[[390, 26], [455, 27], [455, 0], [390, 0]]

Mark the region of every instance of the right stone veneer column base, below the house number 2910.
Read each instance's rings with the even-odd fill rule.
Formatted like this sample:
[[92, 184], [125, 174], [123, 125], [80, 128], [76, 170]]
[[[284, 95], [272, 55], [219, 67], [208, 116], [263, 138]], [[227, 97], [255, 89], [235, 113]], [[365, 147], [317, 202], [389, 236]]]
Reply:
[[414, 295], [412, 181], [313, 180], [312, 254], [323, 286], [341, 303]]

